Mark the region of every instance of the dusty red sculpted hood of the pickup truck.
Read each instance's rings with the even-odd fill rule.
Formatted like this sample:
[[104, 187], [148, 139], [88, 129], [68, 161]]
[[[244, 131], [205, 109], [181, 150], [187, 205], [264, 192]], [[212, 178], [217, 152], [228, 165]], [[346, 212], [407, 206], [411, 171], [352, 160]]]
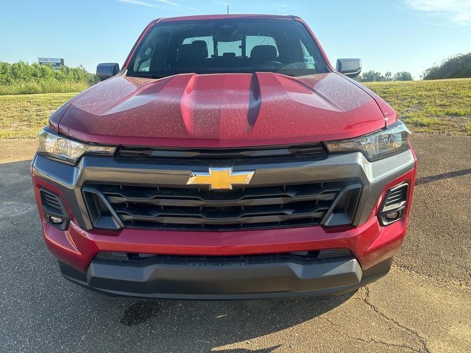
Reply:
[[59, 131], [108, 144], [292, 144], [351, 138], [385, 126], [375, 100], [336, 73], [116, 76], [71, 102]]

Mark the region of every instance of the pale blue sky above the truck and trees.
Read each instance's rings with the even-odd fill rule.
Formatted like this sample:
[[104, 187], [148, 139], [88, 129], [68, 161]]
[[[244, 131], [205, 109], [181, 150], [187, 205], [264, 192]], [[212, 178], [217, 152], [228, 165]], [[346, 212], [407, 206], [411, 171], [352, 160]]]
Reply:
[[0, 11], [0, 61], [63, 57], [94, 72], [123, 64], [143, 28], [158, 17], [225, 13], [298, 15], [330, 61], [359, 57], [364, 70], [409, 71], [471, 51], [471, 0], [6, 0]]

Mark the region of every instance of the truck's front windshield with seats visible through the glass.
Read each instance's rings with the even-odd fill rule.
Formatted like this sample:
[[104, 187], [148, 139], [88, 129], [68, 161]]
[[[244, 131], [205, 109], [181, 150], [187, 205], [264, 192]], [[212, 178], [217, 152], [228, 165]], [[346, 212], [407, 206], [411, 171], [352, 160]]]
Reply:
[[316, 42], [298, 21], [228, 19], [163, 22], [134, 52], [127, 76], [179, 73], [327, 72]]

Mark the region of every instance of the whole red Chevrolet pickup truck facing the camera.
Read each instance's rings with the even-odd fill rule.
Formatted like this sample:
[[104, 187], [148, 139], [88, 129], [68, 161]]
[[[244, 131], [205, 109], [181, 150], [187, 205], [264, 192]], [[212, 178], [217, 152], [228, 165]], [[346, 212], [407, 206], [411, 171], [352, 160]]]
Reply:
[[114, 296], [339, 295], [390, 269], [415, 181], [396, 112], [294, 16], [151, 22], [32, 162], [64, 277]]

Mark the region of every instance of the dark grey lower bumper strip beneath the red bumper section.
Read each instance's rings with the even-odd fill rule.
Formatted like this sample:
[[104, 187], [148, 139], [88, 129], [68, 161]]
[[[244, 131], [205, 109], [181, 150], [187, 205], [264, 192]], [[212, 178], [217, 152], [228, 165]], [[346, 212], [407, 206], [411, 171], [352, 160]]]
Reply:
[[384, 276], [392, 258], [363, 271], [352, 256], [281, 261], [158, 260], [144, 266], [95, 259], [87, 273], [59, 262], [64, 277], [110, 296], [265, 299], [342, 295]]

